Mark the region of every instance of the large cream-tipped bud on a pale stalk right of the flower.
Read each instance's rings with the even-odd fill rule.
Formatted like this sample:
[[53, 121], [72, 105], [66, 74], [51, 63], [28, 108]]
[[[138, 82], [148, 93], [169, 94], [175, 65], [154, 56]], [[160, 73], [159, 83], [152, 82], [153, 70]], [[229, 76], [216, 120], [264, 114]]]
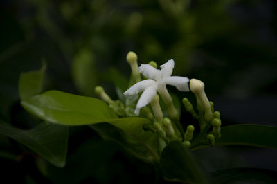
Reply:
[[204, 86], [205, 86], [204, 83], [200, 80], [196, 80], [196, 79], [190, 80], [190, 91], [192, 91], [195, 94], [197, 100], [199, 100], [199, 103], [204, 108], [205, 120], [211, 121], [213, 120], [213, 114], [211, 111], [211, 104], [208, 101], [208, 98], [204, 91]]

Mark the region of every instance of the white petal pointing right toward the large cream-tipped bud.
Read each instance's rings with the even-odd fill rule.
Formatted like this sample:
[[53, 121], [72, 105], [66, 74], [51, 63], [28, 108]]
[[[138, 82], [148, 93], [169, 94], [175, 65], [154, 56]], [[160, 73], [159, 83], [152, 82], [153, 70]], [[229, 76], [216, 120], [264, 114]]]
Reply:
[[179, 91], [190, 91], [188, 88], [188, 77], [171, 76], [163, 79], [163, 82], [175, 86]]

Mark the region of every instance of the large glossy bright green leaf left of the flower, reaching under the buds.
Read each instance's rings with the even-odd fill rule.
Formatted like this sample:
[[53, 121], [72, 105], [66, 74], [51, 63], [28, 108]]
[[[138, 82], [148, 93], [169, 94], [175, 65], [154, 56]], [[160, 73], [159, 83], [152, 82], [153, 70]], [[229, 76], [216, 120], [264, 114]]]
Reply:
[[[137, 154], [157, 156], [159, 140], [157, 134], [143, 130], [151, 123], [145, 118], [118, 118], [102, 100], [72, 95], [62, 91], [47, 91], [21, 102], [33, 115], [60, 125], [93, 125], [108, 122], [124, 132], [124, 145], [130, 145]], [[102, 136], [109, 136], [106, 127], [98, 129]], [[127, 144], [126, 144], [127, 142]]]

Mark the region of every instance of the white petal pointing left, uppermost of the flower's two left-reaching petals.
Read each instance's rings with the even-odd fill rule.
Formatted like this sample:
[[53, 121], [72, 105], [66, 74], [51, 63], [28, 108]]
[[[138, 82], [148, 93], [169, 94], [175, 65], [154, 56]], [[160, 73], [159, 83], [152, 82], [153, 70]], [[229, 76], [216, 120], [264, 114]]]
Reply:
[[131, 86], [123, 94], [127, 97], [132, 97], [138, 95], [139, 93], [141, 93], [141, 91], [144, 91], [149, 86], [157, 86], [157, 82], [155, 82], [154, 80], [143, 80]]

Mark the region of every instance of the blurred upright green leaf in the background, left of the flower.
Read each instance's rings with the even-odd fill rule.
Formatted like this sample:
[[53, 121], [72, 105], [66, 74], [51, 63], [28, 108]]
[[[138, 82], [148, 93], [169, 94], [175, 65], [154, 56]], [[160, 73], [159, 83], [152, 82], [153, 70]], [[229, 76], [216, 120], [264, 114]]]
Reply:
[[75, 55], [71, 71], [77, 89], [84, 95], [93, 95], [97, 75], [91, 50], [82, 48]]

